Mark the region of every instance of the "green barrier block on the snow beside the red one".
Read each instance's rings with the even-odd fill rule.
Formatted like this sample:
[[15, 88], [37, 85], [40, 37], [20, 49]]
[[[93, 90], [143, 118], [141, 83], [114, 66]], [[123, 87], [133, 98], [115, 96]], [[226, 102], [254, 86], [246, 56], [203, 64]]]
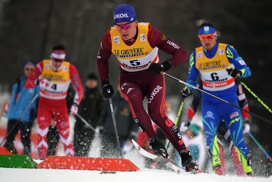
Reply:
[[27, 155], [0, 155], [1, 168], [35, 168], [36, 165]]

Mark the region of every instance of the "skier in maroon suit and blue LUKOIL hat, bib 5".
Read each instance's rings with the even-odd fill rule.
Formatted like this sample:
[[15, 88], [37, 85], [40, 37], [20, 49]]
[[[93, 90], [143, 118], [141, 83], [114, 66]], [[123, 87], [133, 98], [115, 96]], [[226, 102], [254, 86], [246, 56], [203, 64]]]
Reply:
[[[158, 49], [173, 56], [160, 63]], [[120, 64], [122, 94], [129, 102], [134, 119], [154, 152], [168, 156], [166, 148], [156, 137], [151, 119], [179, 151], [182, 166], [187, 171], [197, 169], [198, 165], [183, 143], [178, 128], [164, 113], [165, 77], [160, 74], [183, 63], [187, 59], [187, 52], [149, 23], [138, 23], [134, 8], [122, 4], [115, 8], [114, 27], [104, 34], [97, 55], [105, 98], [111, 98], [114, 94], [108, 77], [108, 59], [112, 53]], [[148, 114], [142, 106], [144, 97], [148, 99]]]

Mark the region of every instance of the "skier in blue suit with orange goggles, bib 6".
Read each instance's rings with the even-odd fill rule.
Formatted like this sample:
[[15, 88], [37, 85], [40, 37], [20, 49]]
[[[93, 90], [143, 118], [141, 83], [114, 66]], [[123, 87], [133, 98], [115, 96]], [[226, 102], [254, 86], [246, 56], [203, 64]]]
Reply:
[[[238, 106], [237, 76], [245, 78], [251, 71], [233, 46], [217, 43], [216, 29], [211, 23], [203, 23], [199, 27], [198, 37], [201, 47], [196, 48], [189, 58], [189, 74], [187, 83], [196, 85], [198, 73], [201, 75], [203, 90], [227, 102]], [[183, 98], [190, 95], [192, 89], [185, 87], [181, 94]], [[206, 134], [206, 144], [212, 158], [213, 168], [218, 166], [219, 152], [215, 148], [217, 127], [223, 119], [230, 131], [231, 139], [241, 152], [242, 165], [246, 175], [253, 175], [251, 168], [251, 155], [243, 139], [242, 117], [239, 109], [231, 107], [208, 95], [202, 95], [202, 121]]]

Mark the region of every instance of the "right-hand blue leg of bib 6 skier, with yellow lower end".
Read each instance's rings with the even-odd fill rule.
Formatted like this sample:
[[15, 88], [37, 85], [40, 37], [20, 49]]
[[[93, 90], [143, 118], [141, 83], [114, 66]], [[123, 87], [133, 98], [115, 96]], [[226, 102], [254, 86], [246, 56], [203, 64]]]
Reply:
[[[232, 103], [237, 106], [237, 99], [233, 100]], [[224, 112], [222, 112], [222, 117], [230, 131], [230, 136], [234, 146], [236, 146], [240, 151], [241, 163], [243, 165], [244, 172], [247, 175], [252, 175], [251, 154], [248, 146], [246, 146], [244, 142], [240, 110], [231, 106], [226, 106], [224, 107]]]

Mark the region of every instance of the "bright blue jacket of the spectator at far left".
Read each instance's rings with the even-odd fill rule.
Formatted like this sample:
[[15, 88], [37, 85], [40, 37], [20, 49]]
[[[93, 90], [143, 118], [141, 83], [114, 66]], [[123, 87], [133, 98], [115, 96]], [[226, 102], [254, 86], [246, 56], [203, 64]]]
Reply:
[[[35, 97], [36, 94], [39, 94], [40, 87], [36, 86], [32, 89], [26, 89], [24, 87], [27, 77], [24, 76], [21, 80], [18, 80], [12, 87], [11, 100], [9, 103], [9, 109], [7, 113], [8, 120], [18, 120], [28, 123], [36, 117], [38, 98], [31, 104], [29, 109], [25, 114], [20, 118], [24, 110], [28, 107], [29, 103]], [[18, 95], [18, 96], [17, 96]], [[17, 99], [16, 99], [17, 97]]]

